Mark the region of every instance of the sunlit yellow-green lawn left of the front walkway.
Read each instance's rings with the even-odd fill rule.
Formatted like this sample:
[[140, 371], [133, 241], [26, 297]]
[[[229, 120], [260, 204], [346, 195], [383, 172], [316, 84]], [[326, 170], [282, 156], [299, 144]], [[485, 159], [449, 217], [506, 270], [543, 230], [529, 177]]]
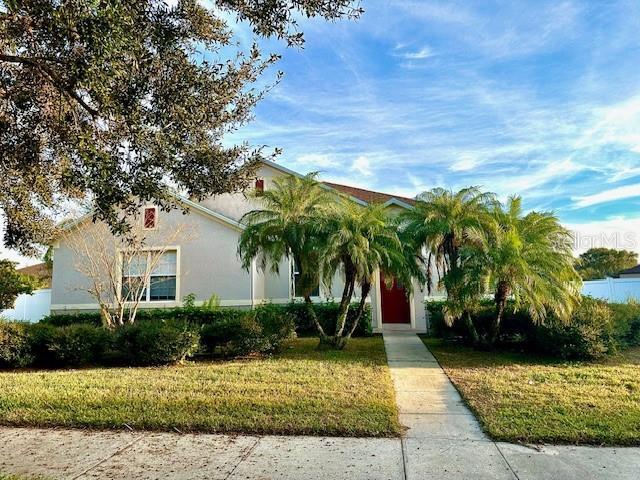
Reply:
[[340, 352], [316, 345], [297, 339], [272, 358], [160, 368], [0, 372], [0, 424], [399, 435], [382, 338]]

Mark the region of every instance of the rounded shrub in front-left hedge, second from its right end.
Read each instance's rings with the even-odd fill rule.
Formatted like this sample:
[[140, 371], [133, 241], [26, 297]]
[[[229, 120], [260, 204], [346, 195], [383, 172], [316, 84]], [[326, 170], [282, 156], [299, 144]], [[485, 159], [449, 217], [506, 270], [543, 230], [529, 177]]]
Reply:
[[181, 362], [198, 351], [200, 334], [182, 320], [138, 321], [115, 330], [112, 360], [127, 365]]

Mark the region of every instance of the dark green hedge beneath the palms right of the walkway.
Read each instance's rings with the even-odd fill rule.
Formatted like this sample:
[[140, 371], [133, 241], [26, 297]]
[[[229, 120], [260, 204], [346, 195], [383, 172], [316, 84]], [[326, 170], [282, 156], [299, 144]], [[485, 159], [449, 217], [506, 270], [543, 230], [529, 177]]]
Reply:
[[[444, 302], [426, 303], [430, 335], [467, 338], [462, 322], [445, 325], [443, 307]], [[483, 302], [474, 313], [474, 325], [480, 335], [486, 334], [494, 315], [495, 306], [490, 301]], [[500, 342], [561, 358], [601, 358], [640, 345], [640, 304], [606, 303], [583, 297], [568, 323], [551, 317], [543, 325], [534, 325], [527, 312], [509, 304], [500, 328]]]

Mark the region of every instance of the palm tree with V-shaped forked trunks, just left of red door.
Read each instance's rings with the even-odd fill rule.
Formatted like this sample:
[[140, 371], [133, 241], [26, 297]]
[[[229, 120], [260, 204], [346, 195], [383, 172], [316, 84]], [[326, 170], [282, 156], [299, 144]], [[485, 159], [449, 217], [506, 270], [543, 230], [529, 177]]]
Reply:
[[[344, 348], [356, 329], [378, 271], [404, 276], [411, 285], [411, 274], [417, 267], [407, 261], [397, 226], [387, 216], [382, 205], [362, 207], [349, 201], [337, 205], [328, 224], [326, 249], [321, 258], [321, 270], [326, 284], [335, 273], [344, 276], [344, 288], [336, 330], [331, 344]], [[346, 328], [347, 313], [356, 286], [360, 286], [360, 302], [351, 326]]]

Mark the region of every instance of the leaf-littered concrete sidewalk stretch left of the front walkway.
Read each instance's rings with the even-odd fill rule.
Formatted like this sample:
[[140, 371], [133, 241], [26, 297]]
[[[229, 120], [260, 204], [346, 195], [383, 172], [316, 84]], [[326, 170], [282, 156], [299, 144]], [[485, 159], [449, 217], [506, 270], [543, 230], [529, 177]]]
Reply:
[[0, 428], [0, 472], [53, 479], [402, 479], [399, 439]]

